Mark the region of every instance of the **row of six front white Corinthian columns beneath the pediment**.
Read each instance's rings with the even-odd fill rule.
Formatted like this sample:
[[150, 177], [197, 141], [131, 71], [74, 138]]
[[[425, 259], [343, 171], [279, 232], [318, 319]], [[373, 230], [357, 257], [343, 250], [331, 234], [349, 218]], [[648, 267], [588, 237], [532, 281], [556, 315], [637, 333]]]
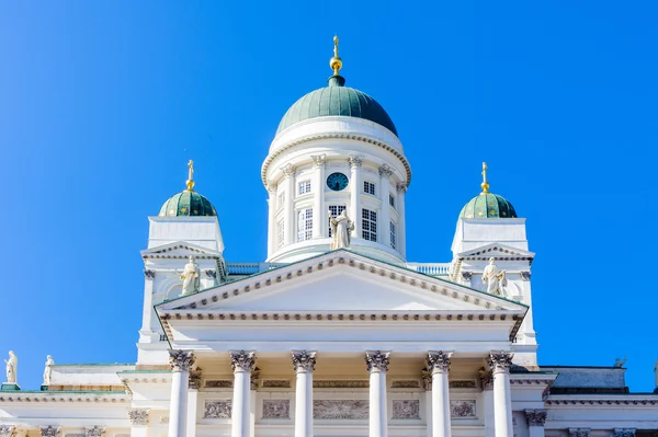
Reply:
[[[194, 364], [192, 352], [170, 350], [172, 368], [169, 436], [186, 436], [186, 402], [190, 369]], [[231, 412], [231, 436], [250, 436], [251, 372], [256, 366], [256, 352], [230, 350], [234, 370], [234, 395]], [[292, 363], [296, 372], [295, 437], [313, 436], [313, 372], [316, 352], [292, 350]], [[432, 437], [451, 437], [451, 411], [449, 372], [453, 353], [430, 350], [427, 367], [431, 372]], [[512, 407], [510, 392], [510, 366], [512, 353], [492, 350], [487, 363], [492, 375], [494, 428], [496, 437], [510, 437]], [[370, 437], [387, 437], [388, 416], [386, 400], [386, 373], [390, 363], [390, 352], [367, 350], [365, 364], [370, 372]]]

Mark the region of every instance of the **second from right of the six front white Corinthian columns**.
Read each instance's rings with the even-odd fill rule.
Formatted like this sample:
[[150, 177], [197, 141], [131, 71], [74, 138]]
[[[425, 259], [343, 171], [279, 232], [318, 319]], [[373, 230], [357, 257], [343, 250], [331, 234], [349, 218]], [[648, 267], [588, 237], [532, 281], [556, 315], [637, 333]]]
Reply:
[[432, 372], [432, 437], [450, 437], [450, 390], [447, 372], [452, 352], [430, 350], [428, 369]]

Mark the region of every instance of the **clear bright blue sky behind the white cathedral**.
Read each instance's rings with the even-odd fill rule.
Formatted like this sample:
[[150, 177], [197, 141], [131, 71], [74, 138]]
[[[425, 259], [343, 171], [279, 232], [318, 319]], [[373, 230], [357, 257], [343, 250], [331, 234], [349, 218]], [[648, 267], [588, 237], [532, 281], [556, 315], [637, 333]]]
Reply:
[[631, 389], [654, 389], [658, 4], [404, 3], [0, 4], [0, 354], [24, 389], [46, 354], [135, 361], [147, 216], [189, 159], [227, 261], [265, 257], [260, 165], [334, 33], [412, 166], [409, 260], [450, 261], [487, 161], [537, 254], [540, 363], [627, 354]]

